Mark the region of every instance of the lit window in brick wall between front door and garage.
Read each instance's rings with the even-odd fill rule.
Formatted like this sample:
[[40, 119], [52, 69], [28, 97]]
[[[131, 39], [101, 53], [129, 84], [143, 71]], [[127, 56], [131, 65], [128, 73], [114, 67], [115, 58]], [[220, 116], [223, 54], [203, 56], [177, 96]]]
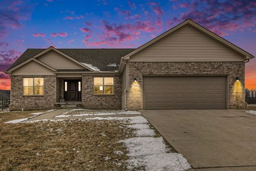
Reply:
[[95, 95], [113, 95], [113, 77], [94, 77]]

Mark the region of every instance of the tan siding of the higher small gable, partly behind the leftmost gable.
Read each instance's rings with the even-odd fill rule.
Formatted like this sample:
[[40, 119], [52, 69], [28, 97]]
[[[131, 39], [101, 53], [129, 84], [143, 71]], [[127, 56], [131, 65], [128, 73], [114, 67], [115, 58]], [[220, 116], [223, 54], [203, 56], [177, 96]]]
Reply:
[[54, 50], [50, 50], [49, 52], [37, 57], [36, 59], [56, 70], [85, 70], [83, 66], [78, 65], [67, 57], [55, 52]]

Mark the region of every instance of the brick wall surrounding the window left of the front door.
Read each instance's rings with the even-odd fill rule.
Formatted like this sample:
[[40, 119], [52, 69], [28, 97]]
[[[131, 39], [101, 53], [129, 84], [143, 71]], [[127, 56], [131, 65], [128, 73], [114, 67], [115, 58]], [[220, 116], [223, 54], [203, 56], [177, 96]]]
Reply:
[[44, 77], [43, 96], [23, 96], [23, 76], [11, 76], [11, 110], [21, 110], [22, 108], [24, 110], [54, 108], [56, 102], [56, 76], [38, 77]]

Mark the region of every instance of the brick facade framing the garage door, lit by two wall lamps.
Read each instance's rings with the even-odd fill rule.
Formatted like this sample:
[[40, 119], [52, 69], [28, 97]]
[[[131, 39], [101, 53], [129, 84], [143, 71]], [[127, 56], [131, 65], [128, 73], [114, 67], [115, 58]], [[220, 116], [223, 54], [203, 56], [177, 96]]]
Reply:
[[[227, 75], [229, 108], [244, 108], [244, 62], [128, 62], [127, 109], [142, 109], [142, 75]], [[236, 77], [240, 82], [236, 82]], [[137, 78], [137, 85], [134, 85]]]

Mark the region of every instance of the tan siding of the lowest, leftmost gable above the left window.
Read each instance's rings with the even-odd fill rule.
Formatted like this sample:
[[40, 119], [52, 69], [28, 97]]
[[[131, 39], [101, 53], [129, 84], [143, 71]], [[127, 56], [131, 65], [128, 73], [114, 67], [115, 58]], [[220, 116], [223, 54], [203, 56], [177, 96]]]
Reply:
[[38, 64], [35, 61], [31, 61], [17, 70], [12, 72], [12, 75], [55, 75], [51, 70], [45, 66]]

